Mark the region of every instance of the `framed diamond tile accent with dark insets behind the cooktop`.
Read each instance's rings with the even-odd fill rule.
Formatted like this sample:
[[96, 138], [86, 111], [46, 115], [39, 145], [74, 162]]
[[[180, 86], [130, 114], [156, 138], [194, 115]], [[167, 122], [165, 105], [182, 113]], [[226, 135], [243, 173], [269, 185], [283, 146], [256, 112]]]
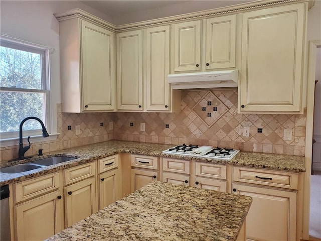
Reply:
[[[203, 109], [204, 106], [207, 106], [208, 103], [216, 106], [217, 110], [212, 112], [205, 112]], [[228, 110], [229, 108], [211, 91], [208, 91], [203, 98], [197, 102], [192, 110], [202, 119], [202, 121], [208, 126], [213, 126], [214, 123], [218, 121]]]

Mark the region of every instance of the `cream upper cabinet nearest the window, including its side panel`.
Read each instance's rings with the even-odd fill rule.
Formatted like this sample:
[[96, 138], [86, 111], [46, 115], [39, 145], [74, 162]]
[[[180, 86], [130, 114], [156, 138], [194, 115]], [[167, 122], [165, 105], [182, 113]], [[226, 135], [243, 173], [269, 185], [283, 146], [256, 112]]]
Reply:
[[115, 34], [74, 18], [59, 24], [63, 112], [116, 108]]

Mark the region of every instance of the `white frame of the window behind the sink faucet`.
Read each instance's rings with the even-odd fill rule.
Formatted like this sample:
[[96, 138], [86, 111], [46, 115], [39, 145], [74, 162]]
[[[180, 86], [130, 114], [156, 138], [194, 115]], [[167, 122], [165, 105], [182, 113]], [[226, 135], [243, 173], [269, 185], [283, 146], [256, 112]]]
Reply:
[[[42, 121], [45, 123], [48, 133], [51, 133], [51, 98], [50, 98], [50, 63], [49, 63], [49, 51], [50, 49], [44, 46], [38, 46], [36, 44], [28, 43], [25, 41], [12, 40], [0, 36], [0, 46], [6, 48], [17, 49], [21, 51], [36, 53], [41, 55], [41, 80], [42, 88], [41, 89], [26, 89], [26, 88], [12, 88], [12, 87], [0, 87], [1, 92], [17, 92], [17, 93], [44, 93], [44, 118]], [[19, 139], [19, 130], [16, 132], [3, 132], [0, 133], [0, 140], [2, 141], [1, 145], [3, 146], [3, 141]], [[25, 137], [39, 137], [42, 135], [42, 129], [37, 130], [25, 130], [23, 132]], [[47, 140], [46, 140], [47, 141]], [[7, 145], [6, 145], [7, 146]]]

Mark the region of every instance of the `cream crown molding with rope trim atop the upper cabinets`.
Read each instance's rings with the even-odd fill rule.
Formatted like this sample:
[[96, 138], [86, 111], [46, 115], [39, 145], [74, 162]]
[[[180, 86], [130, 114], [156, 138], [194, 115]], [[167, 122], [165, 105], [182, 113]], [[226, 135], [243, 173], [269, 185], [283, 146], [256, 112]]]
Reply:
[[310, 6], [312, 7], [314, 5], [314, 0], [309, 0], [309, 1], [308, 0], [258, 0], [258, 1], [246, 3], [246, 4], [233, 5], [233, 6], [224, 7], [224, 8], [205, 10], [205, 11], [200, 11], [195, 13], [182, 14], [177, 16], [153, 19], [153, 20], [136, 22], [131, 24], [119, 25], [119, 26], [116, 26], [107, 21], [104, 21], [81, 9], [73, 9], [65, 13], [54, 14], [54, 16], [57, 18], [59, 22], [67, 19], [79, 18], [79, 19], [83, 19], [88, 22], [94, 23], [103, 28], [106, 28], [112, 32], [121, 33], [129, 30], [169, 25], [169, 24], [199, 20], [199, 19], [215, 17], [215, 16], [238, 14], [238, 13], [248, 12], [256, 9], [270, 8], [270, 7], [287, 5], [287, 4], [296, 3], [296, 2], [302, 2], [302, 3], [308, 2], [309, 7]]

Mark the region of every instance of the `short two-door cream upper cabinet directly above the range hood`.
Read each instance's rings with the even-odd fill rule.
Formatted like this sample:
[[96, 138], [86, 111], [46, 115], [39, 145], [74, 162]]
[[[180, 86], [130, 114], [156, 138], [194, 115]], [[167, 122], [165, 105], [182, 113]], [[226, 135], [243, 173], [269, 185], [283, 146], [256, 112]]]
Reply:
[[174, 72], [235, 67], [236, 15], [175, 24], [174, 39]]

